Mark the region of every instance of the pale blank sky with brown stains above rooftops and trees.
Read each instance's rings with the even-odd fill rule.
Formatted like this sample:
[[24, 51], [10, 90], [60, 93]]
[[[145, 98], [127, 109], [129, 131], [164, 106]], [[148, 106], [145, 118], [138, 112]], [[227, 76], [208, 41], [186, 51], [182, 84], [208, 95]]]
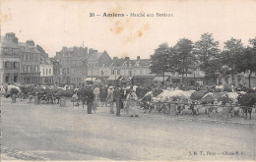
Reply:
[[256, 0], [1, 0], [0, 18], [1, 35], [15, 32], [21, 42], [32, 39], [50, 57], [63, 46], [84, 45], [111, 57], [150, 58], [160, 43], [172, 46], [183, 37], [197, 41], [205, 32], [213, 33], [221, 49], [230, 37], [247, 45], [256, 37], [255, 16]]

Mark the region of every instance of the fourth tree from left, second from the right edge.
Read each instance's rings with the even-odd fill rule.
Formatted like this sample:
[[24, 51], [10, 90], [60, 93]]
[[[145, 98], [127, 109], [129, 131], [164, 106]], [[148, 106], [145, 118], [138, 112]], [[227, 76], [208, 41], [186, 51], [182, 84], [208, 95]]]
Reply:
[[231, 75], [233, 84], [234, 75], [238, 73], [237, 66], [240, 64], [240, 55], [243, 50], [241, 39], [231, 37], [230, 40], [224, 42], [224, 51], [222, 52], [223, 74], [224, 76]]

